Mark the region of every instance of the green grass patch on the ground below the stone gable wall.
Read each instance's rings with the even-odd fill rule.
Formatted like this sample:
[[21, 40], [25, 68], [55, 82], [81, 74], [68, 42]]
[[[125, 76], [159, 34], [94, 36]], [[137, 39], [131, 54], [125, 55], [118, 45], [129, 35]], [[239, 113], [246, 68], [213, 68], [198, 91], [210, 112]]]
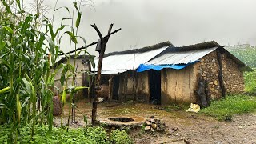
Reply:
[[231, 121], [234, 114], [244, 114], [256, 109], [256, 98], [236, 94], [228, 95], [219, 101], [211, 102], [210, 106], [202, 109], [201, 113], [218, 120]]

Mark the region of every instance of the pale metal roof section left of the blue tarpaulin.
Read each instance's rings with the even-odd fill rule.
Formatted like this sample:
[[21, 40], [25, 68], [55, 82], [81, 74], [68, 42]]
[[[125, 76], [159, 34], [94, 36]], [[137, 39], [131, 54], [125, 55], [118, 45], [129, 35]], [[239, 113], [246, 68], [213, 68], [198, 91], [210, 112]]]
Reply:
[[[150, 61], [150, 59], [160, 54], [163, 50], [166, 50], [169, 46], [170, 45], [135, 53], [135, 60], [133, 53], [109, 55], [103, 58], [102, 72], [105, 71], [106, 74], [118, 74], [124, 72], [123, 70], [137, 69], [140, 64]], [[97, 71], [98, 58], [95, 58], [94, 62], [96, 66], [93, 71]]]

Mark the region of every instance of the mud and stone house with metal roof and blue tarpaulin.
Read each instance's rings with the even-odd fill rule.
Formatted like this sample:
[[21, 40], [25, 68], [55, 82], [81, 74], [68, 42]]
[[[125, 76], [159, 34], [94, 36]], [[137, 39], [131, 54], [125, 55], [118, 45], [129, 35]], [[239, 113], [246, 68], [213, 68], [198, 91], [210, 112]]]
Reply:
[[106, 54], [102, 64], [103, 77], [109, 78], [110, 100], [201, 106], [225, 94], [243, 92], [245, 70], [251, 69], [214, 41], [182, 47], [162, 42]]

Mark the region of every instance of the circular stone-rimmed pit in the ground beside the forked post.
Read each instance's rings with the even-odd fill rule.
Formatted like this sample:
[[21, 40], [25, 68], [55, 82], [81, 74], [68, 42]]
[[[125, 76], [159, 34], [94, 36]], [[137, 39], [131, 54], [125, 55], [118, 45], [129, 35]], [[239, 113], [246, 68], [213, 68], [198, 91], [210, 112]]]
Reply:
[[106, 126], [140, 126], [146, 121], [145, 118], [137, 116], [120, 116], [120, 117], [107, 117], [99, 120], [101, 124]]

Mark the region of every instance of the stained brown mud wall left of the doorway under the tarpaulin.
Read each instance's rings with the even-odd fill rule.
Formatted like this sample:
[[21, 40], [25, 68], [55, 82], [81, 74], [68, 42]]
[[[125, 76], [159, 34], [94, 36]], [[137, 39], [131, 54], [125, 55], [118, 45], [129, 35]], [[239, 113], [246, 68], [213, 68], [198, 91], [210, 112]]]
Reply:
[[147, 71], [136, 73], [135, 78], [133, 78], [132, 71], [130, 70], [121, 74], [119, 97], [126, 101], [127, 99], [133, 99], [133, 95], [136, 94], [137, 99], [143, 99], [148, 102], [150, 95], [149, 87]]

